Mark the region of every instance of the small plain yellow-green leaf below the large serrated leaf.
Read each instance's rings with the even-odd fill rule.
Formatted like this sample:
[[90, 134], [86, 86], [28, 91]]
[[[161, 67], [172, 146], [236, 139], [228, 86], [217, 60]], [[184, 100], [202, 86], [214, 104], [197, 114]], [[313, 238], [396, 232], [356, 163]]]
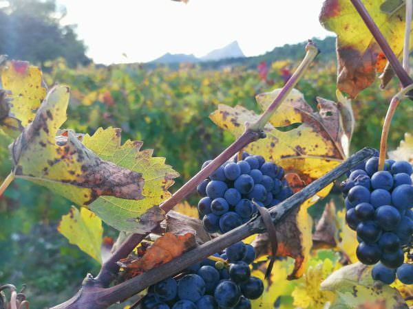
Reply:
[[62, 216], [57, 229], [71, 244], [76, 244], [83, 252], [102, 263], [100, 249], [103, 227], [96, 214], [85, 207], [81, 207], [81, 211], [72, 207], [69, 214]]

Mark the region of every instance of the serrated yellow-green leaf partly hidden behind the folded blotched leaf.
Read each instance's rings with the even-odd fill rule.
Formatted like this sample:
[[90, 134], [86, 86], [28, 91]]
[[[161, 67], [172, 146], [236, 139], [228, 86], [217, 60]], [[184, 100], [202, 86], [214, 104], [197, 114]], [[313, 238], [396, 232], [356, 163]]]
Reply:
[[165, 164], [165, 158], [152, 157], [153, 150], [140, 150], [142, 141], [121, 145], [120, 133], [118, 128], [99, 128], [94, 135], [85, 135], [82, 143], [101, 159], [142, 174], [142, 199], [100, 196], [89, 208], [120, 231], [145, 233], [163, 220], [165, 213], [158, 205], [171, 196], [168, 188], [179, 174]]

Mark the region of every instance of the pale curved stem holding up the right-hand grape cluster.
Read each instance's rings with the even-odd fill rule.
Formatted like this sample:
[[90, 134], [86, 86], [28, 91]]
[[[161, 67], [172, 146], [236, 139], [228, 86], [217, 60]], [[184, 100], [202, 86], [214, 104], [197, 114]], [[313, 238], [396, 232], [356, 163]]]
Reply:
[[379, 168], [378, 170], [384, 170], [384, 163], [385, 163], [385, 155], [387, 152], [387, 142], [388, 142], [388, 135], [390, 131], [390, 125], [392, 124], [392, 119], [394, 116], [394, 112], [396, 111], [397, 106], [399, 106], [400, 101], [405, 98], [407, 92], [413, 89], [413, 84], [401, 89], [399, 93], [394, 95], [392, 100], [390, 101], [390, 105], [388, 108], [388, 112], [385, 115], [383, 129], [381, 130], [381, 140], [380, 140], [380, 155], [379, 155]]

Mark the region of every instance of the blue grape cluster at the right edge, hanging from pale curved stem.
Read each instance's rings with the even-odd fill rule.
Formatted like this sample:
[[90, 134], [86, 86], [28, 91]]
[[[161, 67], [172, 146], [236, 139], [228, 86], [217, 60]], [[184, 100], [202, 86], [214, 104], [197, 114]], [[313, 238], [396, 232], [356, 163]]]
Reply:
[[413, 284], [413, 264], [404, 263], [413, 235], [412, 165], [386, 160], [381, 171], [378, 165], [379, 157], [372, 157], [341, 183], [346, 222], [357, 231], [359, 261], [377, 263], [373, 279], [392, 284], [397, 276]]

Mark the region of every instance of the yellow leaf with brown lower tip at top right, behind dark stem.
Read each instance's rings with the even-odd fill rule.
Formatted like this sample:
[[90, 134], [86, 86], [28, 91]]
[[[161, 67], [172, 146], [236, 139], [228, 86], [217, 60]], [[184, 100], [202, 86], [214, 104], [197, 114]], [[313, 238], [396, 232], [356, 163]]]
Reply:
[[[363, 1], [396, 56], [403, 54], [405, 5], [390, 12], [381, 8], [382, 0]], [[326, 0], [320, 13], [326, 30], [337, 34], [337, 87], [352, 98], [374, 82], [381, 49], [351, 1]], [[412, 42], [410, 32], [410, 42]], [[379, 66], [381, 67], [381, 66]]]

